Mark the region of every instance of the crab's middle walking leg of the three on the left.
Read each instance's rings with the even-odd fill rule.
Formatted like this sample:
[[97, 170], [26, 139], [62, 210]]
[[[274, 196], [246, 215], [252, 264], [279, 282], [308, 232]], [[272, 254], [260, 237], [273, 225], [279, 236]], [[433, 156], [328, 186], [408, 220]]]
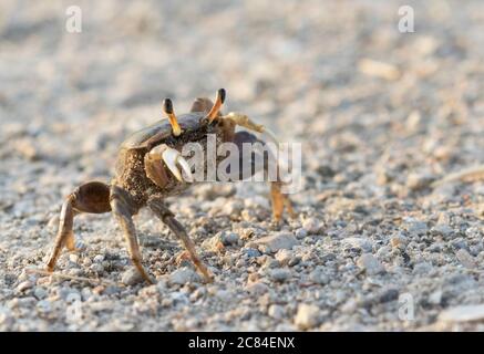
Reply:
[[154, 281], [142, 264], [142, 256], [140, 252], [140, 246], [137, 243], [136, 229], [133, 222], [133, 215], [135, 214], [136, 209], [134, 208], [132, 198], [124, 189], [113, 186], [111, 188], [111, 208], [113, 209], [113, 214], [116, 217], [117, 222], [120, 222], [121, 228], [123, 229], [131, 261], [133, 262], [134, 267], [136, 267], [143, 279], [150, 283], [153, 283]]

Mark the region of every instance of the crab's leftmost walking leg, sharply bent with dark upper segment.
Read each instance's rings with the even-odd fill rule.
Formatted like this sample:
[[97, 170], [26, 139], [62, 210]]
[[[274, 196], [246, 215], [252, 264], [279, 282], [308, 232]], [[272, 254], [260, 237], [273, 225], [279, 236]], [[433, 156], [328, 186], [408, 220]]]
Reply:
[[62, 205], [59, 231], [54, 247], [47, 263], [47, 270], [53, 271], [55, 263], [65, 246], [70, 251], [75, 250], [74, 232], [72, 230], [74, 216], [81, 212], [102, 214], [111, 211], [110, 187], [100, 181], [91, 181], [78, 187]]

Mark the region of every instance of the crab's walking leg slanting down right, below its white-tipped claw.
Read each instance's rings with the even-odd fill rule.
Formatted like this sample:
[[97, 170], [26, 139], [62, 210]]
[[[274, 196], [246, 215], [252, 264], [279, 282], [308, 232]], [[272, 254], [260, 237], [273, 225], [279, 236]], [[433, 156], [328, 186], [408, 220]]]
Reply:
[[185, 228], [179, 223], [174, 214], [163, 204], [163, 200], [157, 197], [153, 197], [148, 200], [148, 207], [153, 212], [172, 230], [173, 233], [183, 242], [183, 246], [188, 251], [192, 261], [198, 271], [204, 275], [206, 282], [212, 281], [212, 275], [208, 269], [200, 261], [196, 250], [195, 244], [185, 231]]

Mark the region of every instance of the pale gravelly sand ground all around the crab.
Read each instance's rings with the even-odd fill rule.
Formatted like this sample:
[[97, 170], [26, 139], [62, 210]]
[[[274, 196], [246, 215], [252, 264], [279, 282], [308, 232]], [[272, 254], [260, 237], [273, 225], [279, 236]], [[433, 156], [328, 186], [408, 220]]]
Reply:
[[[484, 330], [484, 4], [406, 1], [0, 3], [0, 330]], [[383, 64], [381, 64], [381, 63]], [[262, 184], [168, 200], [215, 274], [203, 284], [150, 212], [136, 282], [109, 215], [75, 220], [56, 273], [31, 274], [62, 199], [112, 176], [119, 144], [216, 88], [303, 147], [298, 217]], [[267, 239], [269, 238], [269, 240]], [[214, 247], [217, 241], [224, 247]]]

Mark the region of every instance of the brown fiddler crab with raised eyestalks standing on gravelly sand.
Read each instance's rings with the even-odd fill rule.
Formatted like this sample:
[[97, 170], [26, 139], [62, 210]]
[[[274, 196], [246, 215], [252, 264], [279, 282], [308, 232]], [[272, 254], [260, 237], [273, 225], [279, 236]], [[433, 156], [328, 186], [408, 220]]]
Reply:
[[[54, 270], [64, 247], [69, 251], [76, 250], [73, 233], [73, 219], [76, 215], [112, 212], [123, 230], [131, 261], [141, 277], [153, 283], [154, 278], [143, 267], [133, 222], [133, 216], [140, 209], [147, 207], [182, 241], [185, 248], [184, 253], [189, 257], [204, 280], [210, 282], [213, 275], [198, 257], [194, 242], [182, 223], [177, 221], [174, 212], [165, 205], [167, 197], [178, 195], [196, 183], [190, 166], [182, 156], [181, 150], [187, 143], [204, 142], [207, 134], [216, 136], [217, 145], [224, 142], [233, 142], [237, 146], [244, 143], [266, 144], [247, 131], [236, 132], [236, 126], [266, 133], [274, 138], [269, 129], [255, 123], [245, 114], [233, 112], [223, 115], [220, 107], [225, 95], [225, 90], [220, 88], [217, 91], [215, 103], [209, 98], [197, 98], [189, 113], [178, 116], [175, 115], [172, 101], [165, 98], [163, 112], [168, 119], [158, 121], [134, 133], [121, 145], [115, 176], [111, 183], [89, 181], [75, 188], [66, 197], [61, 209], [59, 231], [47, 262], [47, 271]], [[206, 148], [206, 144], [202, 146]], [[243, 155], [240, 154], [237, 158], [241, 159]], [[250, 158], [254, 156], [251, 155]], [[266, 165], [264, 168], [267, 168]], [[281, 190], [282, 185], [279, 176], [270, 181], [275, 221], [280, 221], [285, 208], [290, 216], [294, 216], [288, 195]]]

